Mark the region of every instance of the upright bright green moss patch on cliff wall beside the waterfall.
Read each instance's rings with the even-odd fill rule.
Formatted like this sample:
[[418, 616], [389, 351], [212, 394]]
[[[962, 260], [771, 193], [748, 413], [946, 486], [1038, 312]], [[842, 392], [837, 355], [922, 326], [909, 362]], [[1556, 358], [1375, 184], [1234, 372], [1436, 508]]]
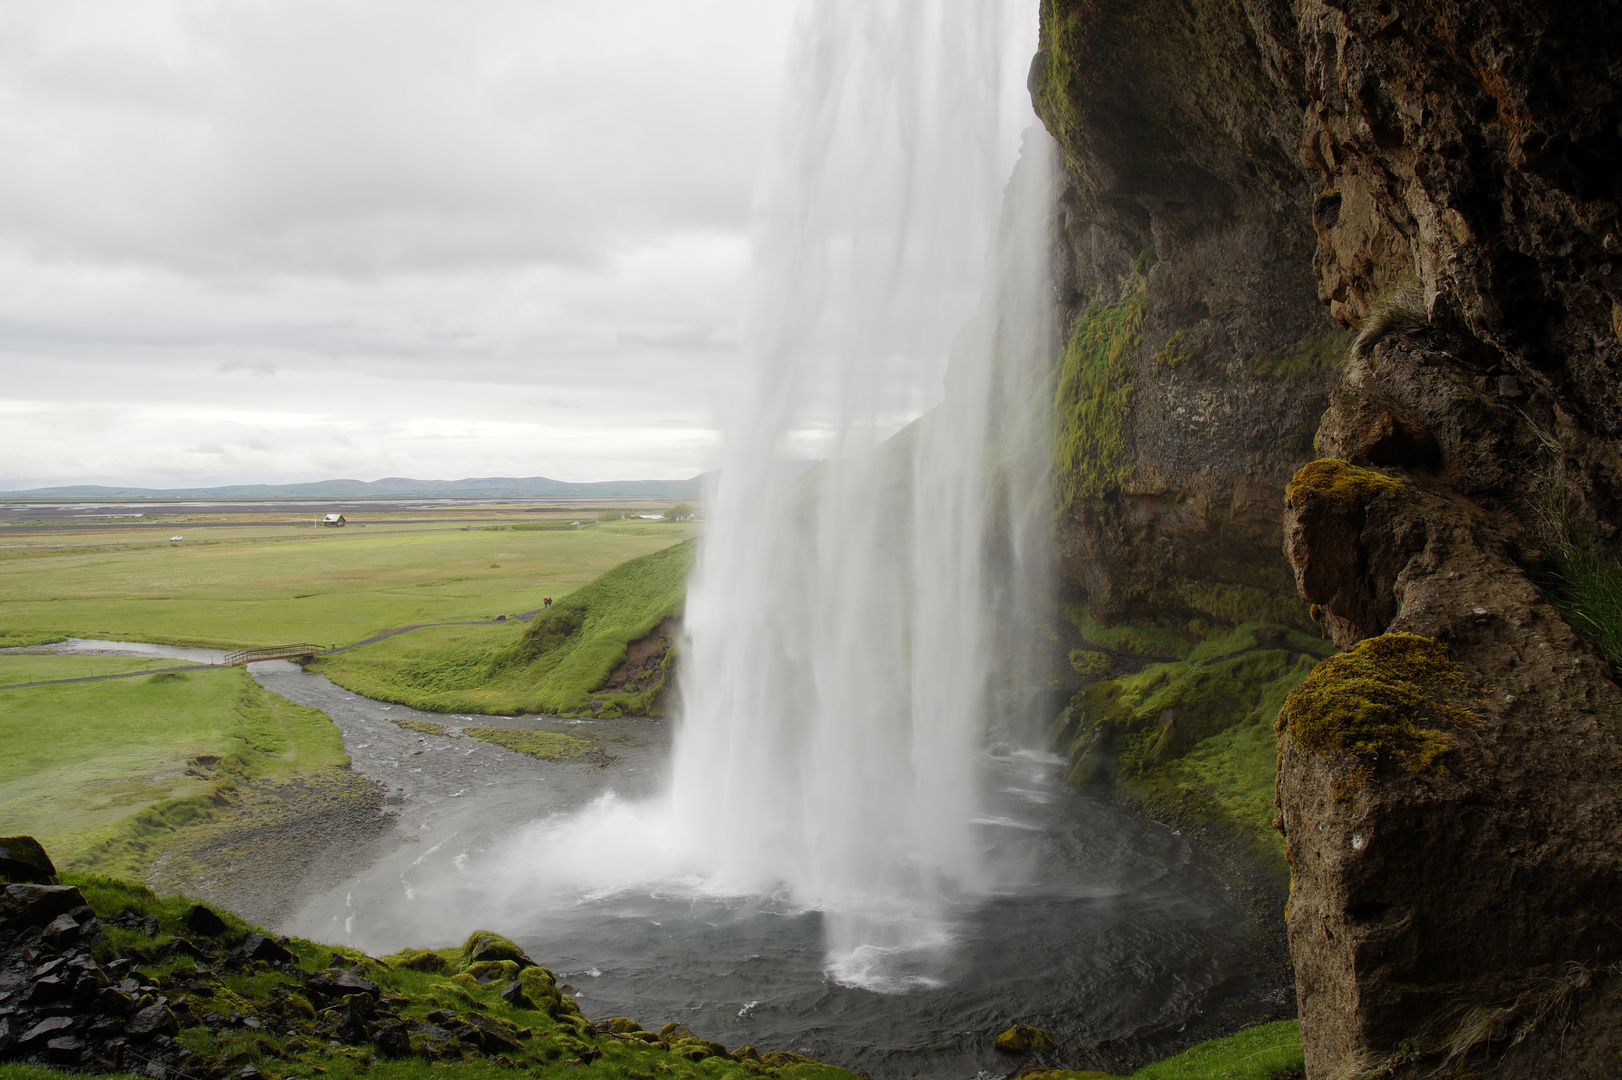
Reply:
[[1124, 423], [1144, 303], [1139, 292], [1116, 305], [1087, 308], [1059, 360], [1053, 464], [1061, 508], [1119, 488], [1132, 475]]

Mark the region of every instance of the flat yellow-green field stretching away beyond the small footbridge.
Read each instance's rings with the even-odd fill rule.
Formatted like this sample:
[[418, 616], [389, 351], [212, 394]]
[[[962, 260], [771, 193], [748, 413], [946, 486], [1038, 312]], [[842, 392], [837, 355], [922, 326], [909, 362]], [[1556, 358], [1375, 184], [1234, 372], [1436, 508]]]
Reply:
[[0, 559], [0, 642], [347, 644], [410, 623], [539, 608], [542, 597], [691, 535], [683, 524], [611, 522], [10, 553]]

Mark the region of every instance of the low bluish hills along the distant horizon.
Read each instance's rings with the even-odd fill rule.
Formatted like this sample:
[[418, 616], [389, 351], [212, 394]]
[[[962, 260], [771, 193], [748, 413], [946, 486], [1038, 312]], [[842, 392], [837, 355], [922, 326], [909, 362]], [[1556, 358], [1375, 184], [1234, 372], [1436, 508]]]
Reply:
[[547, 477], [470, 477], [467, 480], [316, 480], [311, 483], [229, 483], [216, 488], [114, 488], [81, 483], [60, 488], [0, 491], [0, 498], [29, 499], [333, 499], [333, 498], [659, 498], [694, 499], [704, 477], [689, 480], [602, 480], [566, 483]]

